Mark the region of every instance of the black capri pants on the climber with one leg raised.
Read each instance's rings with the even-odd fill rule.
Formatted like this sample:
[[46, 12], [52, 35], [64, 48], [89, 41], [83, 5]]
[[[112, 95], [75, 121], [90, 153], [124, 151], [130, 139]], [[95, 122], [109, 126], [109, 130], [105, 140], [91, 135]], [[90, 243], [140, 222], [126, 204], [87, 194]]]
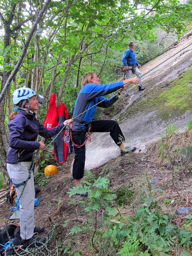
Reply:
[[[91, 132], [110, 132], [110, 136], [114, 142], [120, 146], [125, 140], [123, 132], [118, 123], [114, 120], [93, 120], [91, 121]], [[85, 132], [76, 133], [72, 131], [72, 137], [75, 144], [82, 145], [85, 140]], [[85, 145], [81, 148], [74, 146], [75, 159], [73, 164], [73, 178], [79, 180], [84, 176], [85, 166]]]

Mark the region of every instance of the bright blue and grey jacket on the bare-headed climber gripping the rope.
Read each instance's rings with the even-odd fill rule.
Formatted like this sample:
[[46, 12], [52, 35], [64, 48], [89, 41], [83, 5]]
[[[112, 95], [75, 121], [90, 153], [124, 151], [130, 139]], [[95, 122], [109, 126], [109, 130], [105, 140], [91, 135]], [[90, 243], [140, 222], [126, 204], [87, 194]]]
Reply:
[[[94, 84], [94, 83], [88, 83], [82, 87], [82, 89], [79, 92], [79, 95], [76, 99], [75, 108], [73, 117], [78, 116], [80, 113], [84, 112], [85, 110], [91, 108], [98, 102], [105, 99], [103, 102], [99, 103], [97, 106], [101, 108], [108, 108], [110, 107], [114, 102], [117, 101], [118, 98], [116, 98], [116, 95], [110, 99], [106, 99], [102, 95], [107, 95], [110, 93], [113, 93], [116, 90], [119, 90], [123, 88], [123, 81], [111, 83], [111, 84]], [[84, 114], [77, 117], [79, 120], [86, 121], [87, 123], [90, 123], [91, 120], [93, 120], [95, 111], [97, 106], [94, 106], [92, 109], [88, 110]], [[73, 128], [72, 131], [82, 131], [86, 127], [82, 124], [79, 124], [77, 122], [73, 122]]]

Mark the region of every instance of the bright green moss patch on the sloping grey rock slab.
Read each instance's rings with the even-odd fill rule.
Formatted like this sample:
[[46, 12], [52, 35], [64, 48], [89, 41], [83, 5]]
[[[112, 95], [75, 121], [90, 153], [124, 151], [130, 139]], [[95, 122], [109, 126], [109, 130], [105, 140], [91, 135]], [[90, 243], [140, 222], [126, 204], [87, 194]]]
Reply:
[[192, 110], [192, 72], [191, 68], [182, 72], [170, 83], [156, 86], [140, 101], [133, 103], [121, 118], [136, 114], [141, 110], [156, 111], [157, 118], [168, 121]]

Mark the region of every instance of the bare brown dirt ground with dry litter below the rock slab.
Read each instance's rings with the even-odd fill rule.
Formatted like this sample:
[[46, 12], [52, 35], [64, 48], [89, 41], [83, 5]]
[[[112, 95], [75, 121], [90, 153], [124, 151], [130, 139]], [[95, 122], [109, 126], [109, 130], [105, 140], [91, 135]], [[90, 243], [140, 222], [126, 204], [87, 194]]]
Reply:
[[[50, 161], [57, 166], [58, 172], [49, 177], [48, 184], [45, 187], [39, 187], [39, 205], [35, 207], [35, 225], [45, 226], [45, 232], [42, 234], [44, 237], [47, 237], [53, 226], [56, 226], [56, 234], [49, 244], [49, 248], [55, 247], [56, 240], [62, 241], [62, 239], [67, 237], [74, 225], [79, 222], [86, 223], [90, 218], [89, 214], [84, 211], [79, 204], [80, 200], [86, 202], [88, 199], [80, 198], [80, 196], [72, 196], [69, 198], [67, 193], [69, 188], [74, 186], [74, 181], [72, 180], [70, 173], [73, 154], [74, 153], [68, 157], [67, 162], [62, 166], [58, 166], [54, 162], [54, 156], [52, 155]], [[157, 159], [157, 154], [155, 159], [153, 155], [149, 156], [147, 153], [130, 153], [123, 157], [118, 156], [117, 158], [110, 160], [107, 164], [93, 169], [92, 174], [94, 178], [97, 178], [98, 176], [109, 178], [109, 189], [114, 193], [117, 189], [124, 186], [129, 186], [130, 189], [134, 191], [133, 201], [129, 204], [125, 204], [119, 210], [120, 214], [125, 214], [125, 216], [134, 216], [135, 208], [139, 207], [139, 200], [142, 196], [141, 191], [142, 188], [146, 186], [146, 184], [143, 183], [146, 175], [149, 177], [150, 182], [154, 183], [156, 188], [163, 189], [163, 193], [157, 197], [156, 192], [153, 192], [154, 198], [161, 203], [161, 210], [163, 212], [170, 213], [170, 211], [172, 211], [175, 213], [178, 207], [191, 206], [191, 172], [183, 171], [174, 174], [174, 183], [183, 198], [183, 200], [181, 200], [181, 197], [178, 196], [172, 182], [172, 170], [166, 165], [162, 166], [159, 164]], [[163, 200], [165, 199], [176, 200], [176, 203], [170, 206], [170, 204], [163, 203]], [[186, 200], [188, 200], [188, 202], [186, 202]], [[71, 204], [72, 201], [75, 203]], [[5, 203], [0, 208], [1, 227], [5, 226], [7, 223], [19, 225], [18, 220], [10, 221], [8, 219], [10, 217], [10, 208], [10, 203]], [[102, 217], [102, 212], [100, 216]], [[178, 215], [174, 222], [181, 226], [183, 219], [184, 215]], [[66, 221], [67, 224], [64, 225]], [[98, 223], [98, 226], [99, 225], [101, 224]], [[93, 250], [90, 249], [91, 237], [86, 234], [83, 236], [83, 244], [79, 243], [79, 238], [70, 237], [70, 239], [66, 240], [65, 246], [74, 243], [77, 246], [76, 250], [81, 251], [83, 256], [93, 256]], [[82, 237], [80, 239], [82, 239]]]

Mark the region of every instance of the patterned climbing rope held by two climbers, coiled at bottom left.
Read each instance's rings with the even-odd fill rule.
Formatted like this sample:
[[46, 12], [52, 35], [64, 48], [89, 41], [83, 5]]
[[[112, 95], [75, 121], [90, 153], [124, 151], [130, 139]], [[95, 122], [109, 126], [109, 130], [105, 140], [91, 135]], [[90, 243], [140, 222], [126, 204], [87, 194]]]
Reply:
[[[131, 83], [128, 83], [128, 84], [131, 84]], [[114, 94], [116, 95], [116, 94]], [[114, 97], [114, 95], [112, 97]], [[90, 107], [89, 109], [83, 111], [82, 113], [78, 114], [78, 116], [76, 117], [73, 117], [73, 119], [75, 120], [75, 118], [78, 118], [79, 116], [81, 116], [82, 114], [86, 113], [88, 110], [94, 108], [95, 106], [97, 106], [99, 103], [105, 101], [105, 99], [108, 99], [108, 98], [112, 98], [111, 97], [111, 94], [109, 95], [109, 97], [107, 98], [104, 98], [102, 101], [99, 101], [98, 103], [96, 103], [95, 105], [93, 105], [92, 107]], [[66, 129], [66, 132], [68, 134], [68, 125], [64, 125], [64, 127], [59, 131], [59, 133], [57, 133], [56, 136], [54, 136], [54, 138], [51, 140], [51, 142], [44, 148], [42, 149], [42, 151], [44, 151], [58, 136], [59, 134], [65, 129], [65, 127], [67, 127]], [[69, 135], [69, 134], [68, 134]], [[66, 142], [69, 142], [69, 138], [66, 139]], [[33, 171], [34, 167], [35, 167], [35, 163], [36, 163], [36, 159], [37, 159], [37, 155], [38, 153], [35, 153], [34, 154], [34, 158], [33, 158], [33, 161], [32, 161], [32, 164], [30, 166], [30, 169], [29, 169], [29, 176], [27, 177], [26, 181], [25, 181], [25, 184], [23, 186], [23, 189], [22, 189], [22, 192], [21, 192], [21, 195], [20, 197], [22, 196], [22, 193], [25, 189], [25, 186], [27, 184], [27, 181], [30, 179], [31, 177], [31, 172]], [[18, 198], [18, 201], [20, 199], [20, 197]], [[13, 206], [13, 208], [16, 206], [16, 204]], [[6, 225], [8, 224], [8, 220], [9, 218], [7, 219], [7, 223]], [[53, 249], [49, 249], [48, 248], [48, 243], [53, 239], [54, 237], [54, 234], [55, 234], [55, 230], [56, 230], [56, 226], [54, 225], [52, 227], [52, 229], [49, 231], [48, 233], [48, 237], [46, 239], [46, 241], [44, 243], [42, 243], [41, 246], [35, 246], [35, 247], [30, 247], [29, 248], [26, 248], [26, 249], [22, 249], [22, 247], [20, 248], [19, 246], [15, 246], [12, 241], [11, 241], [11, 245], [14, 249], [14, 253], [15, 255], [29, 255], [29, 256], [39, 256], [39, 252], [41, 252], [41, 255], [45, 255], [45, 256], [58, 256], [58, 255], [61, 255], [62, 254], [62, 248], [64, 247], [64, 242], [65, 240], [67, 239], [67, 237], [69, 236], [69, 234], [67, 234], [64, 238], [64, 240], [57, 245], [57, 249], [53, 248]], [[9, 237], [9, 234], [8, 234], [8, 230], [6, 230], [7, 232], [7, 236]], [[19, 250], [18, 250], [18, 247], [19, 247]], [[7, 248], [8, 249], [8, 248]], [[18, 252], [19, 251], [19, 252]], [[60, 253], [60, 254], [59, 254]], [[5, 251], [5, 256], [7, 256], [6, 254], [6, 251]]]

